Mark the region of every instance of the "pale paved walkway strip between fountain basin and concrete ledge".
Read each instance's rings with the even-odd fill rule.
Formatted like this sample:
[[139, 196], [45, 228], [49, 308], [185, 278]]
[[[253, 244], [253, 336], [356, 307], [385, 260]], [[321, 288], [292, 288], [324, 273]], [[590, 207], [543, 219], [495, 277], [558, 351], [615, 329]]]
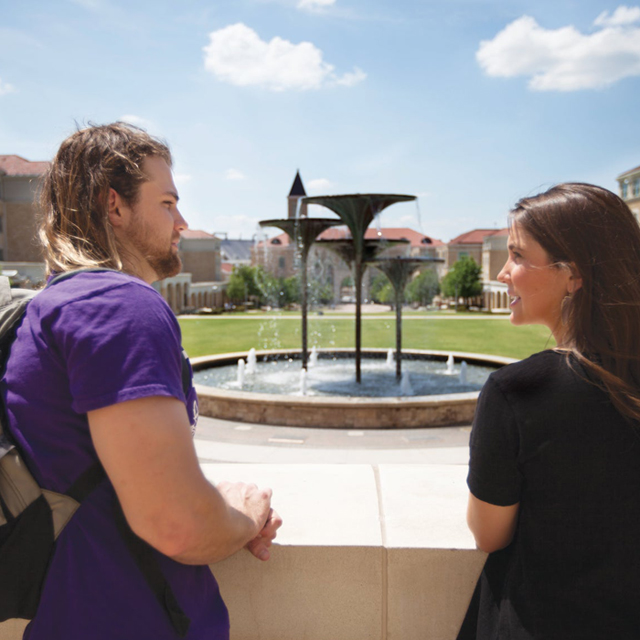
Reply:
[[304, 429], [200, 417], [201, 462], [462, 464], [471, 427], [430, 429]]

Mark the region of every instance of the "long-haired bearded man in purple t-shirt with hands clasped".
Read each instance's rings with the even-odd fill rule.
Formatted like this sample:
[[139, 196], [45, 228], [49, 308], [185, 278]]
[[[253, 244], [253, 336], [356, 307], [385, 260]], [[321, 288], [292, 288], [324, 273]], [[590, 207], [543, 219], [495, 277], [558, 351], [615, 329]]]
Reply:
[[57, 540], [25, 637], [226, 639], [206, 565], [245, 546], [268, 559], [281, 520], [270, 490], [214, 487], [198, 465], [190, 366], [151, 287], [180, 271], [187, 228], [169, 149], [123, 123], [77, 131], [41, 205], [49, 274], [83, 271], [29, 304], [1, 381], [8, 428], [47, 490], [105, 476]]

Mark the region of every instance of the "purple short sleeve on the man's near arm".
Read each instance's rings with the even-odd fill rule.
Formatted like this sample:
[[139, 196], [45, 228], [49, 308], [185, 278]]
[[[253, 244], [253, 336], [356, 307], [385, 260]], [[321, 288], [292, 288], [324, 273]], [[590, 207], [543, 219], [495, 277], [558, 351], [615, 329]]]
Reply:
[[151, 287], [125, 283], [62, 306], [51, 324], [78, 413], [149, 396], [185, 401], [180, 328]]

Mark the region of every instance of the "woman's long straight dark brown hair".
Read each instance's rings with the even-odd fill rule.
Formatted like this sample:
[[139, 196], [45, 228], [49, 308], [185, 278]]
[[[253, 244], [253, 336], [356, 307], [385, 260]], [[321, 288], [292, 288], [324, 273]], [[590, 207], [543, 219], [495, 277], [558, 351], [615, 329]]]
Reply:
[[563, 303], [569, 354], [640, 420], [640, 226], [629, 207], [601, 187], [567, 183], [523, 198], [509, 218], [582, 279]]

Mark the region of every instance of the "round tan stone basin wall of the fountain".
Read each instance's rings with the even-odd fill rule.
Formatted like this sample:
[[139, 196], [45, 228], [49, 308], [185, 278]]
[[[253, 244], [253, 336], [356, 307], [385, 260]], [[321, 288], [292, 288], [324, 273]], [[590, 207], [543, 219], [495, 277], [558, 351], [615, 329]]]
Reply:
[[[300, 349], [259, 351], [258, 360], [266, 358], [299, 358]], [[352, 355], [353, 350], [319, 350], [322, 355]], [[406, 350], [407, 358], [437, 359], [445, 362], [451, 352]], [[367, 349], [365, 357], [384, 359], [387, 350]], [[452, 352], [457, 363], [464, 360], [499, 368], [515, 362], [512, 358], [484, 354]], [[234, 365], [246, 359], [247, 353], [226, 353], [193, 358], [194, 371]], [[196, 384], [200, 414], [221, 420], [269, 424], [291, 427], [336, 429], [408, 429], [470, 424], [473, 419], [478, 391], [429, 396], [383, 398], [272, 395], [220, 389]]]

